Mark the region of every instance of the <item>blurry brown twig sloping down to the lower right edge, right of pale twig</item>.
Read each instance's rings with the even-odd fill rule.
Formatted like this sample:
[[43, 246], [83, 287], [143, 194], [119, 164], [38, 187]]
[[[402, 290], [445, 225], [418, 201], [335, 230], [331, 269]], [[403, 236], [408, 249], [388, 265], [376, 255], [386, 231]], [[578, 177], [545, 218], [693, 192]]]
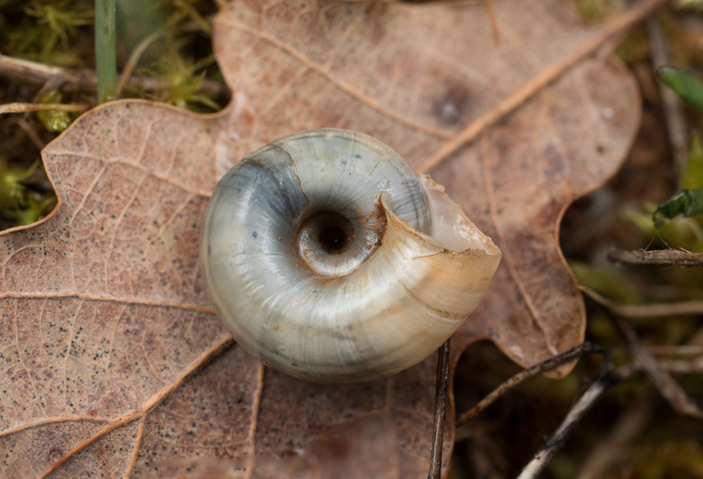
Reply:
[[630, 326], [627, 321], [618, 317], [615, 317], [614, 321], [630, 347], [630, 352], [633, 359], [635, 359], [635, 364], [642, 366], [642, 369], [647, 373], [654, 387], [659, 390], [659, 394], [661, 394], [679, 414], [703, 419], [703, 411], [688, 397], [683, 388], [678, 385], [671, 374], [664, 369], [662, 364], [659, 364], [654, 355], [643, 347], [632, 326]]

